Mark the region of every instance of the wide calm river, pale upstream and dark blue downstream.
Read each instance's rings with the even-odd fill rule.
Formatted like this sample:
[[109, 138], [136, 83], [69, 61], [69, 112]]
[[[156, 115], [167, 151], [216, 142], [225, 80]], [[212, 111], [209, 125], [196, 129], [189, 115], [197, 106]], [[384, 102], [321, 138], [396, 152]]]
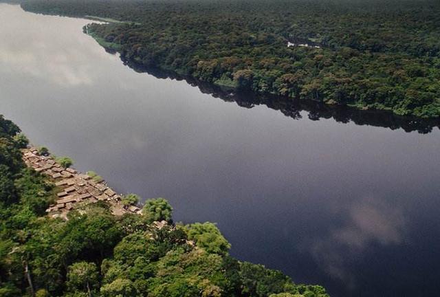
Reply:
[[177, 221], [217, 222], [232, 255], [332, 296], [438, 296], [435, 123], [225, 102], [124, 66], [85, 23], [0, 4], [0, 113], [34, 143], [166, 197]]

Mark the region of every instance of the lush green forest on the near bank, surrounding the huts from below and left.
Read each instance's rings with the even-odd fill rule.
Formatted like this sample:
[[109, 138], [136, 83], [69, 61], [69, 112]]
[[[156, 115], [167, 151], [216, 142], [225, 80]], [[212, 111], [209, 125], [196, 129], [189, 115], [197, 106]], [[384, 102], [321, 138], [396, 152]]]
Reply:
[[[327, 297], [240, 262], [213, 223], [173, 223], [164, 199], [116, 217], [102, 203], [52, 218], [57, 188], [23, 164], [28, 144], [0, 115], [0, 296]], [[153, 221], [167, 221], [157, 228]]]

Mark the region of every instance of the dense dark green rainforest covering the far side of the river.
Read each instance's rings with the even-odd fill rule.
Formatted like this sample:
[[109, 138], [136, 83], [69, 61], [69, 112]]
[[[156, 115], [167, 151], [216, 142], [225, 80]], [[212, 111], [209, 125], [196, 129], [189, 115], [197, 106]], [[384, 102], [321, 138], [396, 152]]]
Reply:
[[437, 0], [23, 0], [22, 7], [118, 20], [86, 31], [124, 59], [203, 82], [440, 115]]

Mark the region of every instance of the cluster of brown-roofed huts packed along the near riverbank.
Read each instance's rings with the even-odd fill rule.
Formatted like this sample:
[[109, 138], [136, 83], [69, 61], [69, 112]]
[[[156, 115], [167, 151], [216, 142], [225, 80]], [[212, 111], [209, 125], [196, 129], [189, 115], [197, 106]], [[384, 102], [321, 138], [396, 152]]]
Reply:
[[137, 206], [124, 206], [121, 196], [113, 191], [105, 181], [96, 181], [89, 175], [78, 173], [72, 168], [63, 168], [51, 156], [41, 155], [37, 148], [23, 150], [25, 163], [37, 172], [48, 175], [54, 184], [61, 188], [56, 202], [46, 212], [53, 217], [66, 217], [67, 212], [85, 203], [107, 201], [113, 214], [122, 215], [126, 212], [140, 213]]

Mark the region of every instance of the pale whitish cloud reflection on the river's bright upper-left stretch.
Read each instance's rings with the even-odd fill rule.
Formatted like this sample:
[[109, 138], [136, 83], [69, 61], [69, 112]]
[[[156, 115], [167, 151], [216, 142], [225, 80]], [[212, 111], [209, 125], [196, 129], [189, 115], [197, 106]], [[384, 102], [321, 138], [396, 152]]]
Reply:
[[[5, 4], [3, 4], [5, 5]], [[21, 10], [18, 5], [14, 5], [14, 10]], [[0, 10], [0, 19], [7, 19], [8, 10]], [[87, 20], [74, 19], [78, 23], [78, 33], [65, 39], [59, 47], [53, 47], [56, 41], [47, 28], [42, 27], [45, 22], [50, 25], [54, 18], [46, 17], [41, 21], [38, 14], [25, 14], [24, 19], [13, 23], [2, 23], [2, 39], [8, 42], [0, 43], [0, 64], [3, 65], [2, 72], [21, 72], [25, 76], [32, 76], [37, 80], [44, 80], [54, 83], [61, 87], [90, 86], [98, 78], [99, 72], [94, 69], [94, 65], [89, 64], [90, 56], [85, 56], [82, 52], [76, 50], [80, 43], [94, 43], [93, 39], [83, 39], [81, 28]], [[39, 22], [36, 21], [39, 20]], [[35, 25], [40, 24], [40, 25]], [[63, 25], [69, 25], [68, 22], [61, 23], [58, 30], [63, 32]], [[28, 32], [26, 34], [17, 34], [17, 32]], [[48, 33], [49, 32], [49, 33]], [[68, 32], [65, 30], [65, 32]], [[32, 36], [32, 39], [23, 40], [24, 36]], [[67, 42], [66, 42], [67, 40]], [[23, 47], [23, 44], [26, 46]], [[108, 58], [117, 58], [104, 53], [100, 47], [95, 47], [92, 56], [107, 56]]]

